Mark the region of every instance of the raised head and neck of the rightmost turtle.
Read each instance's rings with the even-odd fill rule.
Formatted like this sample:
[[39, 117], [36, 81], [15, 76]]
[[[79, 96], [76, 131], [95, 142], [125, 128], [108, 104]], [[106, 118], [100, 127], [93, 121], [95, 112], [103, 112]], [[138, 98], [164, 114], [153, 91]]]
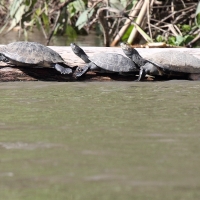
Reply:
[[146, 60], [142, 58], [142, 56], [138, 53], [136, 49], [134, 49], [131, 45], [127, 43], [120, 44], [124, 54], [129, 57], [138, 67], [144, 65]]

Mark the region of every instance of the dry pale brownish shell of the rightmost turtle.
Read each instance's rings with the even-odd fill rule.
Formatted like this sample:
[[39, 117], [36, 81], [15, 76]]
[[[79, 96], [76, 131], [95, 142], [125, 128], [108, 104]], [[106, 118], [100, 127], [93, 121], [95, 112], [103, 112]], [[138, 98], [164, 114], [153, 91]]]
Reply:
[[200, 73], [200, 59], [189, 53], [168, 50], [142, 56], [164, 71]]

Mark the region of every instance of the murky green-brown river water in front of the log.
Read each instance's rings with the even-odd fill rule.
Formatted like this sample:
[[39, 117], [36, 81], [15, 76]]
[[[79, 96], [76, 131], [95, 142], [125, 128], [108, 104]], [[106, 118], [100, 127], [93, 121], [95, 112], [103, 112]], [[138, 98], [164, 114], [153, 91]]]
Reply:
[[1, 83], [1, 198], [200, 199], [199, 87]]

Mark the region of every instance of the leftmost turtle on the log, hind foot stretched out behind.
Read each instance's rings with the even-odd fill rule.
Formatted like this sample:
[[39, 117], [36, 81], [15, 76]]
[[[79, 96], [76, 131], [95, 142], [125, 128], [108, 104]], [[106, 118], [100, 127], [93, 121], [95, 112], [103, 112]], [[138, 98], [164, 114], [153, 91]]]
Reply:
[[62, 57], [36, 42], [13, 42], [0, 49], [0, 61], [22, 67], [53, 67], [61, 74], [71, 74]]

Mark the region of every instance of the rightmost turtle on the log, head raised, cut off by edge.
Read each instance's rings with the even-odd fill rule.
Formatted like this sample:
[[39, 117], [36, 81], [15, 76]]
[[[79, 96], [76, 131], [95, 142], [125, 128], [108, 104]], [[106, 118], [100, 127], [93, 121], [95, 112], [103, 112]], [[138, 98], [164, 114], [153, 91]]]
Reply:
[[140, 67], [138, 81], [144, 78], [146, 74], [162, 76], [200, 73], [200, 59], [188, 53], [166, 50], [146, 54], [142, 57], [129, 44], [121, 43], [120, 46], [125, 55]]

